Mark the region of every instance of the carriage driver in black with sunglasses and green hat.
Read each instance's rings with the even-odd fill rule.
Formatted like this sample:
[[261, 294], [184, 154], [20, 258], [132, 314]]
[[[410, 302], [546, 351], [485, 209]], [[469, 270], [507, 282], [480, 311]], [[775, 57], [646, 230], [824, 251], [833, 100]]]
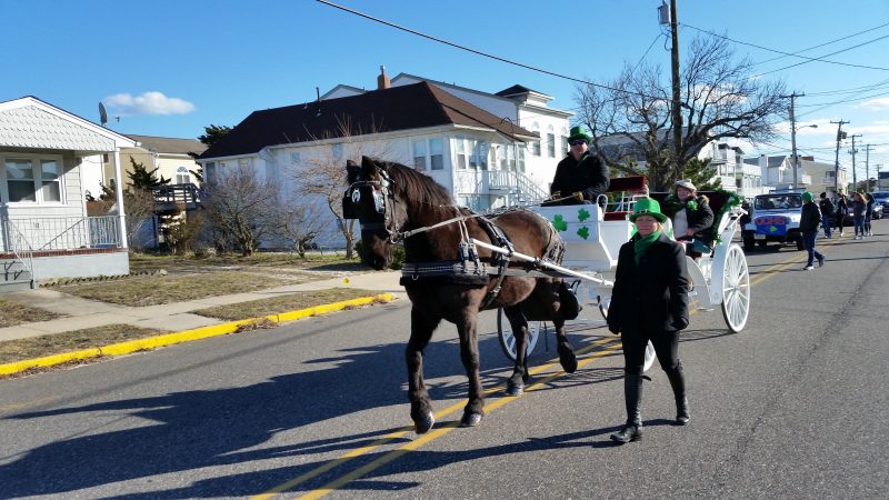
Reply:
[[608, 190], [608, 167], [589, 149], [590, 134], [582, 126], [571, 127], [568, 144], [571, 150], [556, 167], [546, 204], [596, 203]]

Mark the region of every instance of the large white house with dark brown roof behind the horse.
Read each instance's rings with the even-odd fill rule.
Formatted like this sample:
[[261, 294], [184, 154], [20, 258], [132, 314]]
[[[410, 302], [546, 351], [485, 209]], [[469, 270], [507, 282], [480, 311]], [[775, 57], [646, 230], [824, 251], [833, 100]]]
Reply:
[[[410, 76], [390, 84], [383, 73], [372, 91], [337, 86], [318, 101], [254, 111], [198, 161], [208, 182], [244, 167], [296, 192], [294, 170], [330, 159], [344, 169], [347, 159], [366, 153], [423, 171], [473, 209], [539, 201], [565, 154], [570, 114], [546, 110], [548, 97], [539, 92], [507, 90], [511, 97]], [[332, 224], [326, 238], [342, 244]]]

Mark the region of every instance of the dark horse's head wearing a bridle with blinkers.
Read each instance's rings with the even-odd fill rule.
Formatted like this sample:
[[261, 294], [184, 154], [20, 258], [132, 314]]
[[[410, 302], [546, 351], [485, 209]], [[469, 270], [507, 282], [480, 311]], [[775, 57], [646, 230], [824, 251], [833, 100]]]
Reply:
[[347, 219], [361, 224], [361, 260], [373, 269], [392, 263], [392, 243], [404, 223], [404, 211], [396, 210], [396, 190], [384, 164], [362, 157], [361, 164], [346, 163], [349, 188], [342, 199]]

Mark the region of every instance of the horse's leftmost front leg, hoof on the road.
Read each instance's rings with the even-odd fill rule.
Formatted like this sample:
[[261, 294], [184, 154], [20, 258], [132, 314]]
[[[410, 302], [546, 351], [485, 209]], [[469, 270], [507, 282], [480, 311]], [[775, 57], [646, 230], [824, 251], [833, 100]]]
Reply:
[[427, 432], [436, 423], [432, 414], [432, 402], [423, 382], [423, 349], [432, 338], [441, 318], [431, 318], [420, 311], [417, 306], [410, 310], [410, 340], [404, 348], [404, 360], [408, 364], [408, 399], [410, 400], [410, 418], [418, 434]]

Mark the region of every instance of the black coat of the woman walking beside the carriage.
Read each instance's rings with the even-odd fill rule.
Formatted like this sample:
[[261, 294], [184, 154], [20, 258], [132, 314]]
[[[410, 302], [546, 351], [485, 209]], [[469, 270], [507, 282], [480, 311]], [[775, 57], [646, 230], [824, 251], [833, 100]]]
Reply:
[[647, 337], [688, 327], [688, 268], [681, 244], [661, 233], [636, 263], [632, 240], [620, 247], [608, 329]]

